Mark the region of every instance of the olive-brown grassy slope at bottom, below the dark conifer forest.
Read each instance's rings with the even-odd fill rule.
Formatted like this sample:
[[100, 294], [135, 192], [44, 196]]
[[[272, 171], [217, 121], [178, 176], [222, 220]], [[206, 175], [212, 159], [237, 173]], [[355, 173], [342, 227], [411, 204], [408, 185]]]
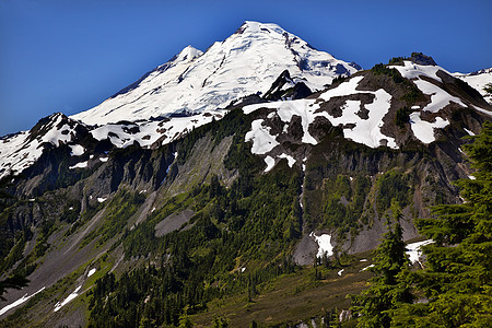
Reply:
[[[255, 320], [265, 326], [295, 324], [312, 317], [326, 315], [333, 308], [348, 308], [348, 294], [359, 294], [366, 286], [372, 273], [367, 270], [370, 253], [361, 253], [343, 262], [341, 268], [320, 269], [316, 280], [315, 268], [303, 267], [295, 273], [284, 274], [259, 288], [259, 293], [248, 302], [246, 293], [208, 304], [208, 311], [191, 316], [199, 327], [211, 325], [215, 317], [225, 317], [231, 327], [248, 327]], [[339, 270], [343, 269], [341, 277]]]

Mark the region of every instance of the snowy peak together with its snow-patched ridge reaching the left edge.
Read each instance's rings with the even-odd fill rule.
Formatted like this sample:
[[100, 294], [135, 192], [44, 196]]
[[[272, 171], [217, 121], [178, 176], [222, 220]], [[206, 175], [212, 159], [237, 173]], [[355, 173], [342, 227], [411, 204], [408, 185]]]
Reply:
[[[101, 105], [68, 119], [72, 125], [84, 126], [94, 139], [108, 139], [118, 148], [134, 142], [157, 147], [222, 118], [226, 112], [221, 109], [233, 101], [255, 94], [271, 99], [273, 92], [286, 95], [301, 90], [304, 95], [311, 94], [324, 89], [332, 79], [350, 75], [359, 69], [355, 63], [314, 49], [276, 24], [245, 22], [235, 34], [213, 44], [206, 52], [188, 46]], [[289, 79], [279, 89], [279, 79], [284, 72]], [[274, 85], [279, 90], [273, 91]], [[56, 117], [50, 125], [58, 130], [50, 133], [62, 133], [63, 127]], [[26, 148], [32, 139], [27, 134], [30, 132], [24, 131], [15, 138], [3, 138], [0, 178], [21, 173], [40, 156], [43, 147], [30, 144], [32, 149]], [[52, 139], [50, 136], [39, 138]], [[59, 138], [50, 143], [57, 147], [67, 140]]]

